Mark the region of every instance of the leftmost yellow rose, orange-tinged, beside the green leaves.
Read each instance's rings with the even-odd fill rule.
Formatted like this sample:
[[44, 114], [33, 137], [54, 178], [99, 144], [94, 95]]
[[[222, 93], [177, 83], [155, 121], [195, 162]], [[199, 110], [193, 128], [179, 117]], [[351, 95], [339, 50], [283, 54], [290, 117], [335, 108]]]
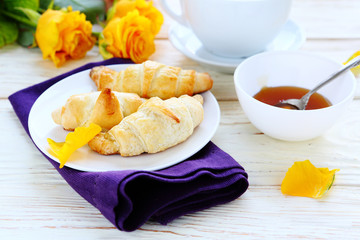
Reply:
[[79, 59], [95, 44], [92, 25], [79, 11], [51, 10], [44, 12], [38, 22], [35, 39], [44, 59], [50, 58], [57, 67], [67, 59]]

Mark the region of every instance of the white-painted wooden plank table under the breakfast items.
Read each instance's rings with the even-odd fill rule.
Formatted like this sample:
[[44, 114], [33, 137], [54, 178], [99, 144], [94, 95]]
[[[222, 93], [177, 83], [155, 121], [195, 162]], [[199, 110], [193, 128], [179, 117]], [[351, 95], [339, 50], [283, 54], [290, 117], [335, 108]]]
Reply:
[[[203, 67], [171, 45], [167, 30], [172, 20], [165, 18], [151, 59], [212, 75], [212, 93], [221, 108], [212, 141], [246, 169], [248, 191], [167, 226], [148, 222], [131, 233], [117, 230], [40, 154], [7, 99], [17, 90], [102, 60], [98, 49], [56, 68], [39, 49], [10, 45], [0, 49], [0, 239], [359, 239], [360, 88], [346, 114], [323, 136], [298, 143], [271, 139], [244, 115], [232, 75]], [[291, 18], [306, 32], [302, 51], [343, 62], [360, 50], [359, 0], [294, 0]], [[320, 200], [281, 194], [287, 169], [305, 159], [317, 167], [340, 168]]]

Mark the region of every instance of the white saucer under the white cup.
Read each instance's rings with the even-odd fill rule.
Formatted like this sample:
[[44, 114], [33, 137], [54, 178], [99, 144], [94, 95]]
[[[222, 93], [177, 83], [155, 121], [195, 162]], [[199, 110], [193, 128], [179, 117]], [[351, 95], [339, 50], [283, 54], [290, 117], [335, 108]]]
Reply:
[[[173, 46], [188, 58], [219, 72], [232, 74], [235, 68], [246, 59], [245, 57], [225, 58], [208, 52], [191, 29], [178, 23], [170, 27], [169, 39]], [[265, 51], [296, 50], [305, 42], [305, 39], [304, 31], [295, 22], [289, 20]]]

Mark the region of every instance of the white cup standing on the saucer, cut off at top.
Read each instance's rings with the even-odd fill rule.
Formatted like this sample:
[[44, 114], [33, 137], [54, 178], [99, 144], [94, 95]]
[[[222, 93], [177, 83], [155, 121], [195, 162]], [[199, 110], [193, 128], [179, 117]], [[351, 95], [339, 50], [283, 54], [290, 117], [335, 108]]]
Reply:
[[[173, 1], [173, 0], [171, 0]], [[209, 52], [230, 58], [264, 51], [289, 17], [292, 0], [178, 0], [165, 11], [190, 28]]]

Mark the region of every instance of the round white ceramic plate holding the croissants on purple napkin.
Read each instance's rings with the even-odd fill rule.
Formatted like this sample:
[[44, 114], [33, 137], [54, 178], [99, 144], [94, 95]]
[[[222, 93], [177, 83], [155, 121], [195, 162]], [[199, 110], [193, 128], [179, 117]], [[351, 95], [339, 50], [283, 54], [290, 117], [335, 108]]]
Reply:
[[[129, 65], [110, 65], [117, 71]], [[96, 91], [96, 86], [89, 77], [90, 70], [71, 75], [47, 89], [36, 100], [29, 114], [29, 131], [36, 146], [49, 158], [59, 160], [49, 154], [47, 138], [63, 142], [69, 133], [55, 124], [51, 112], [65, 104], [74, 94]], [[203, 148], [213, 137], [220, 122], [220, 108], [211, 92], [202, 93], [204, 97], [204, 120], [194, 133], [183, 143], [163, 152], [141, 154], [134, 157], [120, 155], [104, 156], [93, 152], [87, 145], [78, 149], [65, 164], [67, 167], [82, 171], [113, 170], [158, 170], [179, 163]]]

